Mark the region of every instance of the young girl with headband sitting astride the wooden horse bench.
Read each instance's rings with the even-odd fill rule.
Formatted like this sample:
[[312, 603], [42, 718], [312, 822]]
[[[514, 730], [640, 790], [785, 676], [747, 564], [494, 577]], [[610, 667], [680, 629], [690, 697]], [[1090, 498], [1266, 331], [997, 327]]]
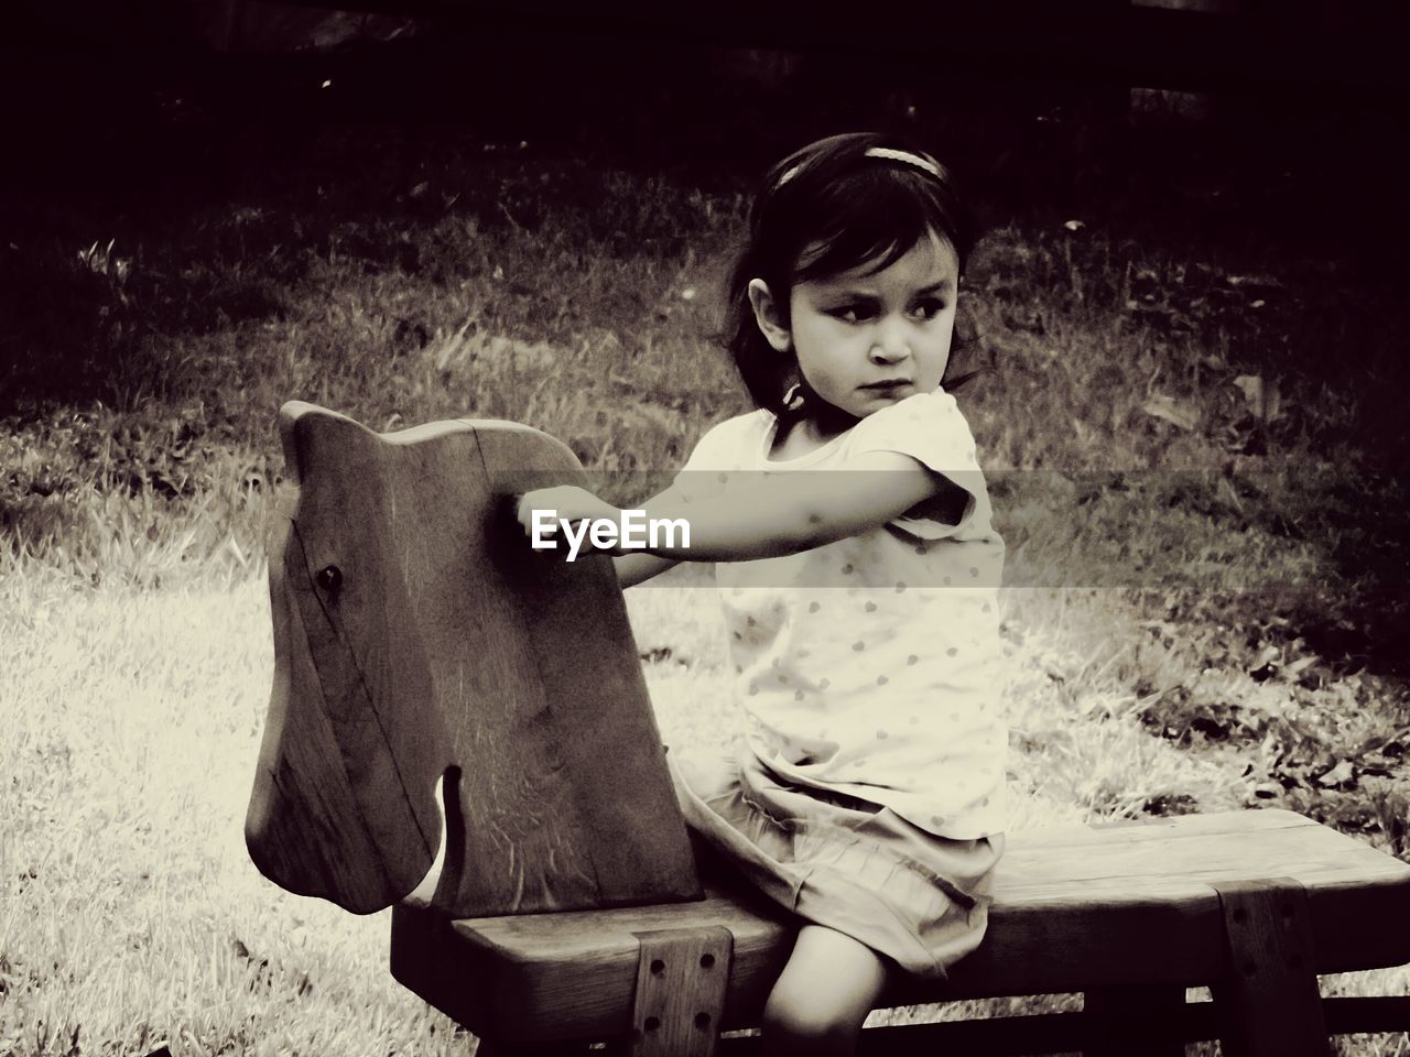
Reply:
[[[973, 238], [946, 171], [891, 137], [776, 165], [729, 290], [759, 410], [644, 505], [685, 519], [688, 545], [613, 551], [623, 585], [719, 562], [747, 750], [668, 758], [689, 824], [805, 922], [766, 1008], [771, 1053], [852, 1053], [888, 975], [943, 977], [984, 933], [1004, 545], [942, 388]], [[526, 495], [526, 530], [536, 509], [622, 516], [577, 488]]]

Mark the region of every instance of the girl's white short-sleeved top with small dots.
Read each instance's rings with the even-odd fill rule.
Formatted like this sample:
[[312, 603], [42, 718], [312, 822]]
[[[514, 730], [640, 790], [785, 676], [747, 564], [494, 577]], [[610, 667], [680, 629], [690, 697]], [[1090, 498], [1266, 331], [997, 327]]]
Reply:
[[1001, 832], [1004, 544], [953, 397], [912, 396], [790, 461], [768, 459], [773, 427], [766, 412], [715, 427], [677, 488], [705, 499], [721, 472], [766, 471], [833, 474], [847, 488], [849, 459], [873, 451], [909, 455], [948, 485], [860, 536], [716, 565], [753, 753], [790, 784], [890, 808], [936, 836]]

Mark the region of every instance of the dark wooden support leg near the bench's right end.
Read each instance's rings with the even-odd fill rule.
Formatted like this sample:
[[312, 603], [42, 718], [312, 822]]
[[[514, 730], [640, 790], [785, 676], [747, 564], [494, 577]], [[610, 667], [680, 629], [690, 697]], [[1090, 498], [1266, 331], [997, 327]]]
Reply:
[[1215, 885], [1230, 975], [1213, 988], [1228, 1057], [1330, 1057], [1307, 892], [1290, 878]]

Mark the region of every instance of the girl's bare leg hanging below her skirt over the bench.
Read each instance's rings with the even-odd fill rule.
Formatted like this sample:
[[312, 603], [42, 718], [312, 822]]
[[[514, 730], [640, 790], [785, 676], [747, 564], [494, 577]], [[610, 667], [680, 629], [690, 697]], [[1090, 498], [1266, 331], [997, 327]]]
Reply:
[[805, 925], [764, 1006], [768, 1057], [853, 1054], [885, 974], [881, 956], [864, 943]]

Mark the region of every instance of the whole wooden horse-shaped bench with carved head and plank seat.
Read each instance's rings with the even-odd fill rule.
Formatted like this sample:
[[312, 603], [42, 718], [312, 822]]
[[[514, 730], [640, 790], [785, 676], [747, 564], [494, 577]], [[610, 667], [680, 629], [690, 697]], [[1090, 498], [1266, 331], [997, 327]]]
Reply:
[[[393, 975], [486, 1054], [695, 1057], [756, 1025], [795, 923], [702, 889], [611, 561], [534, 552], [513, 517], [584, 483], [572, 454], [302, 403], [279, 427], [255, 865], [396, 906]], [[1410, 999], [1324, 1002], [1317, 974], [1406, 961], [1410, 865], [1290, 812], [1014, 834], [980, 950], [885, 1002], [1084, 992], [1083, 1012], [869, 1029], [863, 1051], [1321, 1056], [1328, 1030], [1410, 1027]], [[1215, 1001], [1187, 1005], [1196, 985]]]

